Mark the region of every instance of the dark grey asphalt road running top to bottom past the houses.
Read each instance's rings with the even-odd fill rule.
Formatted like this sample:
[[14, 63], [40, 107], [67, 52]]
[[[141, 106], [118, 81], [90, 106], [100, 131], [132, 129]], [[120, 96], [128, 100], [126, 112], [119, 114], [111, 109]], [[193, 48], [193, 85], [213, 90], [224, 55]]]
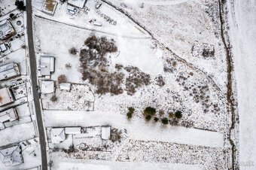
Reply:
[[46, 142], [44, 136], [44, 124], [41, 116], [41, 105], [39, 101], [38, 91], [36, 86], [38, 85], [37, 81], [37, 72], [36, 72], [36, 58], [33, 42], [33, 26], [32, 26], [32, 1], [26, 0], [26, 20], [27, 20], [27, 34], [29, 40], [29, 62], [30, 62], [30, 72], [32, 80], [32, 90], [35, 103], [35, 114], [38, 123], [38, 132], [39, 132], [39, 141], [41, 145], [41, 169], [47, 170], [47, 151], [46, 151]]

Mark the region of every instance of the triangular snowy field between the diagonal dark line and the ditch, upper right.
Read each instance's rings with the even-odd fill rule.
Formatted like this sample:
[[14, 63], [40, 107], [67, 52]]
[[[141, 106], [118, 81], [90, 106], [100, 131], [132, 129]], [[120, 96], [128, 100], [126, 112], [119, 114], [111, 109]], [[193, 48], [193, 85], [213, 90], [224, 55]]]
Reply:
[[[218, 1], [107, 1], [122, 9], [145, 27], [177, 56], [205, 71], [221, 89], [225, 89], [226, 61], [220, 38]], [[213, 57], [197, 57], [195, 44], [214, 47]], [[207, 55], [206, 55], [207, 56]]]

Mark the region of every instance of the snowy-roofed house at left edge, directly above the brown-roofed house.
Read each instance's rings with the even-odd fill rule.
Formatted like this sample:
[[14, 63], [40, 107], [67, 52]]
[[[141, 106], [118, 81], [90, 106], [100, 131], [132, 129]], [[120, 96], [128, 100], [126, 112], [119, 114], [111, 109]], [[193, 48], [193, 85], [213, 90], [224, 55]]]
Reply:
[[17, 63], [12, 62], [0, 66], [0, 80], [7, 80], [18, 75], [20, 75], [20, 69]]

